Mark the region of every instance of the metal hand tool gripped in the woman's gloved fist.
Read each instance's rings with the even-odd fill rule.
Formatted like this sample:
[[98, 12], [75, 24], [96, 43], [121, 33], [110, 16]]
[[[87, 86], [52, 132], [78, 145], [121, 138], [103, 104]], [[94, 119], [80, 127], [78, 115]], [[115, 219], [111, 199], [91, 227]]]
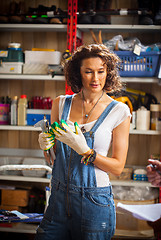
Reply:
[[[42, 132], [49, 132], [49, 121], [46, 119], [46, 115], [44, 114], [44, 119], [37, 122], [34, 127], [40, 127]], [[53, 165], [52, 159], [55, 159], [55, 154], [53, 148], [46, 151], [47, 156], [49, 157], [50, 165]]]

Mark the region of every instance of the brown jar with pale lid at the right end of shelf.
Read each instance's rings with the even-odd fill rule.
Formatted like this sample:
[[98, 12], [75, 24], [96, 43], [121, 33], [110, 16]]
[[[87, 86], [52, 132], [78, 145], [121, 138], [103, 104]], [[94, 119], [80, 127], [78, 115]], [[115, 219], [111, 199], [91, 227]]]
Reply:
[[150, 129], [157, 130], [157, 125], [161, 113], [161, 104], [150, 104]]

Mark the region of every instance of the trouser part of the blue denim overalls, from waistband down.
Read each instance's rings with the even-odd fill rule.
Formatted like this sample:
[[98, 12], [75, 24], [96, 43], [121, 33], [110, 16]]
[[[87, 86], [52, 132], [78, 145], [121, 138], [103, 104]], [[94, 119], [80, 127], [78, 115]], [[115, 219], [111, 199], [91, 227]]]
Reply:
[[108, 240], [114, 230], [115, 206], [111, 186], [67, 187], [52, 181], [49, 207], [37, 230], [36, 240]]

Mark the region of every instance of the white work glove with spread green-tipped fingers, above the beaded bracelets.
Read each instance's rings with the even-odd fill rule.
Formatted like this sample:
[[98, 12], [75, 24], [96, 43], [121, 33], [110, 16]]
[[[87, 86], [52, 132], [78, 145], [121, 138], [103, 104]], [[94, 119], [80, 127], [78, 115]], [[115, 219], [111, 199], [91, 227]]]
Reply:
[[74, 126], [75, 132], [71, 130], [64, 120], [61, 120], [61, 126], [57, 122], [54, 122], [51, 125], [56, 139], [67, 144], [78, 154], [83, 155], [87, 153], [90, 148], [87, 145], [86, 139], [78, 126], [78, 123], [75, 122]]

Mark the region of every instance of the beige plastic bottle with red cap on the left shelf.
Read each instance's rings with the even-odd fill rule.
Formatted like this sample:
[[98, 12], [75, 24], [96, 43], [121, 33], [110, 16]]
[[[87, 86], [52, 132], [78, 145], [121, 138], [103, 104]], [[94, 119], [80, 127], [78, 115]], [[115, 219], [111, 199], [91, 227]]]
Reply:
[[26, 125], [26, 108], [27, 108], [27, 97], [26, 95], [21, 95], [18, 101], [18, 125]]

